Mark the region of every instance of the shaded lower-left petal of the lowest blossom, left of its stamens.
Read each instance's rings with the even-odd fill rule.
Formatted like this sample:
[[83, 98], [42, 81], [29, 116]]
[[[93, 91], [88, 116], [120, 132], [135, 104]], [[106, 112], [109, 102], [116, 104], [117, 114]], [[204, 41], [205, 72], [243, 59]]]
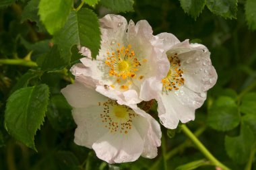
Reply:
[[75, 143], [92, 148], [92, 144], [101, 136], [108, 133], [104, 127], [100, 114], [102, 106], [92, 105], [88, 108], [73, 108], [72, 114], [77, 128], [75, 129]]

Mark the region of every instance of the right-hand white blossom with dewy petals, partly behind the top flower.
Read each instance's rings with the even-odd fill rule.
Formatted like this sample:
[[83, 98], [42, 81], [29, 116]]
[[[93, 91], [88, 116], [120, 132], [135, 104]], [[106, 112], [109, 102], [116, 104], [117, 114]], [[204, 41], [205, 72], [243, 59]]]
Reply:
[[168, 33], [159, 34], [158, 38], [164, 41], [170, 69], [158, 85], [150, 82], [145, 85], [154, 91], [148, 93], [142, 89], [141, 99], [156, 98], [160, 122], [174, 129], [179, 121], [195, 120], [195, 109], [201, 107], [206, 91], [215, 85], [217, 73], [205, 46], [189, 44], [189, 40], [180, 42]]

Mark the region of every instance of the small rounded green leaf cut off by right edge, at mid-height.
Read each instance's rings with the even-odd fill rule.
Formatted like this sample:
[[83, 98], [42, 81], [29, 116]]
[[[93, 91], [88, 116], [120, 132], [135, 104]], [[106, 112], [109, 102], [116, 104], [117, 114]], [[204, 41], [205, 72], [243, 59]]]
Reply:
[[256, 115], [256, 93], [248, 93], [241, 99], [241, 112]]

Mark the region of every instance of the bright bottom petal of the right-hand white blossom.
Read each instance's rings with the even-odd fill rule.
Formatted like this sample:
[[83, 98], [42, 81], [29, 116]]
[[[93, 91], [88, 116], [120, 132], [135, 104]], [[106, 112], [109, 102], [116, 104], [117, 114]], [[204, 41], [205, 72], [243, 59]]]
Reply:
[[158, 116], [161, 123], [170, 129], [177, 128], [179, 120], [183, 123], [195, 120], [195, 109], [201, 107], [206, 93], [195, 93], [187, 87], [178, 91], [161, 93], [158, 98]]

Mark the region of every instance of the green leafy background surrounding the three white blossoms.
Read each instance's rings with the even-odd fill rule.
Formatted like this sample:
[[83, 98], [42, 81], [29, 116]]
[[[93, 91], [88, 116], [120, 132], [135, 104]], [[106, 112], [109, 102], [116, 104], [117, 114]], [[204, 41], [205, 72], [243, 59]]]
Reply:
[[[188, 126], [230, 169], [256, 169], [255, 0], [86, 0], [74, 1], [74, 9], [69, 1], [67, 8], [56, 8], [54, 14], [47, 9], [51, 3], [61, 5], [63, 1], [0, 1], [0, 169], [154, 170], [164, 169], [164, 161], [168, 169], [215, 169], [179, 128], [162, 128], [164, 147], [159, 148], [158, 157], [140, 158], [134, 163], [108, 165], [92, 150], [74, 144], [71, 108], [60, 90], [73, 81], [68, 70], [79, 58], [77, 44], [91, 47], [94, 56], [98, 54], [96, 15], [117, 12], [135, 22], [146, 19], [154, 34], [170, 32], [181, 41], [190, 39], [207, 46], [218, 81]], [[75, 24], [72, 18], [77, 19]], [[94, 41], [84, 36], [85, 31]], [[67, 32], [73, 33], [73, 39], [69, 40]], [[33, 148], [31, 141], [28, 144], [27, 138], [16, 136], [22, 126], [12, 125], [13, 131], [7, 126], [10, 135], [4, 120], [8, 124], [15, 118], [15, 110], [18, 113], [24, 109], [17, 103], [7, 104], [7, 99], [31, 93], [32, 89], [39, 91], [41, 84], [45, 91], [49, 88], [49, 99], [40, 96], [42, 103], [29, 108], [40, 119], [26, 122], [32, 126], [28, 138], [34, 138], [36, 152], [24, 145]], [[34, 101], [26, 99], [26, 95], [22, 99], [24, 105]], [[155, 110], [152, 116], [158, 120]]]

